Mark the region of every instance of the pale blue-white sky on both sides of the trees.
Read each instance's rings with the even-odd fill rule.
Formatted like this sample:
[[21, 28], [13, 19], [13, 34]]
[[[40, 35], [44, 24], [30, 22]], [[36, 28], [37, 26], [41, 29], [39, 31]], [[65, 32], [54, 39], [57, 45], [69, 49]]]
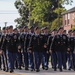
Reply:
[[[0, 26], [4, 27], [4, 22], [7, 22], [7, 26], [13, 25], [16, 26], [14, 20], [19, 16], [17, 9], [14, 6], [16, 0], [0, 0]], [[75, 6], [75, 0], [73, 0], [72, 5], [65, 5], [65, 8], [71, 9]]]

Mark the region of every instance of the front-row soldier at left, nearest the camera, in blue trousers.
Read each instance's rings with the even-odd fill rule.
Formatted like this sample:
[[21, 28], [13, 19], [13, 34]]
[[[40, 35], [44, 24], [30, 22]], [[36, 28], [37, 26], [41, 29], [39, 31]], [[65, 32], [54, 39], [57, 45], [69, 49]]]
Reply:
[[8, 55], [8, 66], [10, 69], [10, 73], [14, 72], [14, 62], [16, 60], [17, 54], [17, 38], [13, 34], [13, 26], [9, 26], [9, 33], [6, 35], [5, 43], [7, 47], [7, 55]]

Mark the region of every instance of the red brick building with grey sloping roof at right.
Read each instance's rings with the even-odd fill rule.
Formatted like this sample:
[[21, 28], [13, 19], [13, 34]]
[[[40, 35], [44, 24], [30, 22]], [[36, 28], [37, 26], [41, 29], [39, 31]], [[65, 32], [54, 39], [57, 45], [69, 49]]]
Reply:
[[62, 17], [64, 30], [68, 32], [75, 25], [75, 7], [62, 13]]

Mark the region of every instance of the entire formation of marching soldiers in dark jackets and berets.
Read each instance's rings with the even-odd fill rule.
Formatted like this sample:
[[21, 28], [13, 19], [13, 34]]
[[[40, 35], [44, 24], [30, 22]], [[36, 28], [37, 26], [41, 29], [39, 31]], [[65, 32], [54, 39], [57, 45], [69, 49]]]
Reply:
[[48, 70], [50, 61], [54, 71], [75, 71], [75, 30], [66, 34], [63, 27], [49, 32], [47, 27], [9, 26], [0, 31], [1, 70], [12, 73], [24, 67], [39, 72], [40, 65]]

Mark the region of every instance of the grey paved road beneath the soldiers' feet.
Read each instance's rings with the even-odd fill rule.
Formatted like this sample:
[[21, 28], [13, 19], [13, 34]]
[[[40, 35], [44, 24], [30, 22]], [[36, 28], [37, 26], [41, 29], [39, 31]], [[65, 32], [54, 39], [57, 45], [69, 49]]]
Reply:
[[57, 70], [54, 72], [52, 69], [49, 69], [48, 71], [42, 70], [40, 72], [31, 72], [31, 71], [25, 71], [25, 70], [15, 70], [14, 73], [8, 73], [0, 71], [0, 75], [75, 75], [75, 71], [68, 71], [64, 70], [63, 72], [59, 72]]

